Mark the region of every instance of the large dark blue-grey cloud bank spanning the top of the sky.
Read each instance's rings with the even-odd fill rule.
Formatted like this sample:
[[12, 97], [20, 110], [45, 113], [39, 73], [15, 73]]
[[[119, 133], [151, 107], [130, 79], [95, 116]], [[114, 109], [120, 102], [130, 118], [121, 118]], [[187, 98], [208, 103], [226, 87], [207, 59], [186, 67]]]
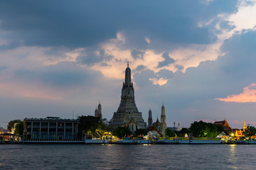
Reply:
[[199, 20], [235, 9], [236, 1], [1, 1], [0, 29], [24, 45], [96, 45], [124, 31], [129, 45], [147, 45], [144, 35], [178, 44], [214, 40]]

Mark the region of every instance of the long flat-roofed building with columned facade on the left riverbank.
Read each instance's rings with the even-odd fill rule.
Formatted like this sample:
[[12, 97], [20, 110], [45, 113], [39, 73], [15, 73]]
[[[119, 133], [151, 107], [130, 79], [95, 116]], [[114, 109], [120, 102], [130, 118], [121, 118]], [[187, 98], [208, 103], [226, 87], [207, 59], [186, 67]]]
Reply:
[[78, 137], [78, 122], [78, 119], [59, 117], [25, 118], [23, 135], [27, 140], [75, 140]]

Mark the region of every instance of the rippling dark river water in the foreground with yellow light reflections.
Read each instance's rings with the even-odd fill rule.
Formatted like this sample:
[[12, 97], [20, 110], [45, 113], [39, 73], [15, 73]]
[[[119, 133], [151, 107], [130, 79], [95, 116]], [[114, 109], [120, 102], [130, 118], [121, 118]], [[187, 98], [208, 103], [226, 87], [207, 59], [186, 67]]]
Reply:
[[255, 169], [255, 148], [256, 145], [0, 145], [0, 169]]

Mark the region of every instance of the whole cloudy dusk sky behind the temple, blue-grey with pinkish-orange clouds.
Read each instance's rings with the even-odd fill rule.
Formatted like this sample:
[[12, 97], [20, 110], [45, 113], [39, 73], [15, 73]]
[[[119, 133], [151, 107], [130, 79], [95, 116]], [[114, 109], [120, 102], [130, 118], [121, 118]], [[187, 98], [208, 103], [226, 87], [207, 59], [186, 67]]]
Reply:
[[129, 62], [147, 122], [256, 126], [256, 1], [0, 1], [0, 127], [110, 120]]

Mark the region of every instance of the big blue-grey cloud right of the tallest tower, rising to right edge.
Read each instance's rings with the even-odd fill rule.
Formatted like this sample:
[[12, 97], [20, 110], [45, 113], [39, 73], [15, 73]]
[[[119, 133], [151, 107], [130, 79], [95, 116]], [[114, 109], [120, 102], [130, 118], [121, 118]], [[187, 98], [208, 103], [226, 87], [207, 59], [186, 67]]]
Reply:
[[[216, 61], [201, 62], [198, 67], [186, 69], [185, 73], [176, 72], [167, 84], [160, 87], [146, 87], [140, 82], [140, 79], [154, 78], [154, 73], [135, 74], [134, 80], [139, 81], [141, 87], [146, 87], [140, 89], [140, 93], [146, 94], [142, 96], [142, 101], [149, 101], [148, 98], [152, 103], [166, 101], [170, 108], [182, 109], [188, 108], [192, 102], [200, 105], [200, 101], [240, 94], [244, 87], [256, 83], [255, 45], [256, 31], [234, 35], [223, 44], [222, 52], [226, 52], [226, 55], [219, 56]], [[150, 89], [154, 89], [154, 94], [158, 95], [151, 98], [147, 94]], [[207, 113], [200, 114], [202, 118]]]

